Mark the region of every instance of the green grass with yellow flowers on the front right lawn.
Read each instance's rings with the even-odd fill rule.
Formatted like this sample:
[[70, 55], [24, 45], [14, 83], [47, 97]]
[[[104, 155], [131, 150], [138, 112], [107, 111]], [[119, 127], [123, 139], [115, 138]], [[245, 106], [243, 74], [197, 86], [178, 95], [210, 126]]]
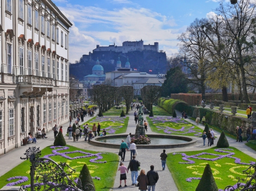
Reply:
[[[185, 153], [183, 154], [183, 156], [181, 156], [180, 154], [173, 155], [173, 153], [167, 154], [167, 166], [172, 173], [174, 182], [176, 183], [179, 191], [196, 190], [196, 186], [198, 185], [200, 180], [191, 180], [191, 182], [189, 182], [186, 179], [191, 177], [201, 178], [206, 163], [210, 164], [215, 177], [215, 182], [219, 189], [224, 189], [227, 185], [235, 185], [237, 183], [236, 177], [246, 178], [246, 175], [244, 176], [242, 170], [247, 169], [250, 166], [249, 161], [255, 161], [254, 158], [244, 154], [243, 152], [239, 151], [234, 147], [229, 147], [229, 149], [232, 150], [223, 150], [228, 153], [217, 152], [214, 151], [215, 149], [218, 148], [210, 147], [209, 149], [204, 151], [182, 152]], [[199, 159], [187, 157], [202, 152], [204, 152], [205, 154], [202, 154], [200, 156], [193, 156], [199, 157]], [[230, 152], [234, 153], [234, 155], [231, 155], [232, 157], [237, 157], [238, 159], [241, 159], [240, 162], [248, 164], [234, 163], [236, 159], [229, 157], [223, 157], [215, 160], [215, 158], [223, 155], [228, 155], [230, 154]], [[208, 153], [217, 154], [220, 156], [213, 156], [209, 155]], [[187, 158], [188, 160], [191, 160], [195, 163], [188, 163], [188, 161], [185, 161], [182, 158]], [[205, 158], [207, 160], [202, 160], [201, 158]], [[212, 159], [214, 161], [211, 161]]]

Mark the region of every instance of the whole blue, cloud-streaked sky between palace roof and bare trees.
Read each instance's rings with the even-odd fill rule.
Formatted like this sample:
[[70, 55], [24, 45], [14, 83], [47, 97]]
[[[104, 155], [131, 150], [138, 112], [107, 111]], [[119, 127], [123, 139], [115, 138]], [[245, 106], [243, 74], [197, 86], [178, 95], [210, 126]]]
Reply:
[[179, 34], [195, 18], [213, 14], [220, 0], [53, 0], [72, 22], [69, 60], [74, 63], [96, 45], [123, 41], [159, 42], [171, 56], [178, 51]]

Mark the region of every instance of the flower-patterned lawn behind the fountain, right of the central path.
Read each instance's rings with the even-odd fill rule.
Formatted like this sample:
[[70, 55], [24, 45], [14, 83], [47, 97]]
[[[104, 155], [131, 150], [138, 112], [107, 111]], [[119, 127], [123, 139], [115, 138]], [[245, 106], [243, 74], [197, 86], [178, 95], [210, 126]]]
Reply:
[[201, 136], [203, 131], [182, 118], [147, 117], [147, 120], [151, 130], [160, 134]]

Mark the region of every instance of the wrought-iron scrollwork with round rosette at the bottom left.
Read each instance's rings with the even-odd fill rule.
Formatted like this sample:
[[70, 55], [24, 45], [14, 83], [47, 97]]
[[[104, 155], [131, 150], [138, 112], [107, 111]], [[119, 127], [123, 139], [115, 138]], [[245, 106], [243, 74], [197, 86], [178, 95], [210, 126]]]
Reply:
[[[56, 163], [50, 158], [40, 158], [39, 147], [26, 150], [26, 157], [30, 159], [30, 191], [95, 191], [93, 185], [85, 185], [82, 189], [82, 182], [79, 178], [73, 177], [76, 172], [67, 163]], [[22, 185], [21, 191], [28, 191], [28, 187]]]

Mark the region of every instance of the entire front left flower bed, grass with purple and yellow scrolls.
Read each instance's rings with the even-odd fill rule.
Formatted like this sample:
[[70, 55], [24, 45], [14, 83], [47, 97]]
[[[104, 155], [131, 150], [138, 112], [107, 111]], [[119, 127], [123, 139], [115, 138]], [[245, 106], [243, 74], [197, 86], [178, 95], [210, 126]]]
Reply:
[[[17, 159], [19, 159], [19, 157], [20, 156], [18, 156]], [[49, 146], [42, 150], [41, 157], [50, 157], [56, 163], [67, 163], [72, 169], [76, 170], [75, 173], [72, 173], [73, 178], [79, 176], [80, 170], [83, 168], [83, 164], [86, 163], [95, 182], [95, 189], [101, 191], [108, 191], [109, 187], [113, 187], [116, 170], [119, 163], [118, 155], [116, 154], [86, 151], [73, 146]], [[13, 176], [14, 174], [16, 176]], [[0, 188], [5, 185], [25, 185], [24, 189], [30, 188], [29, 174], [30, 162], [24, 161], [0, 177]]]

